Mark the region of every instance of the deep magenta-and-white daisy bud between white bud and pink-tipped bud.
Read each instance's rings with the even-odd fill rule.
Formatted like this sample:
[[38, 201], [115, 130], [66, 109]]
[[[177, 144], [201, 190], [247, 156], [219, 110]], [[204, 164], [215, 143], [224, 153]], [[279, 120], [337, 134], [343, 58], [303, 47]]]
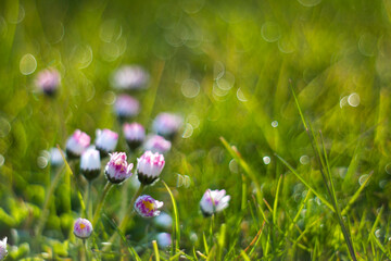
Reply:
[[110, 161], [108, 162], [104, 174], [109, 182], [118, 184], [131, 176], [133, 163], [126, 162], [125, 152], [114, 152], [110, 154]]

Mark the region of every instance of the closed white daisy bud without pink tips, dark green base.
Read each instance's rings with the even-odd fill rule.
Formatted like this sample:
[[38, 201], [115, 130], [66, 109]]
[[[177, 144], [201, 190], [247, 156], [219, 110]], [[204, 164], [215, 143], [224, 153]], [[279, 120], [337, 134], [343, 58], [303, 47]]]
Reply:
[[100, 154], [94, 148], [87, 149], [80, 158], [80, 172], [88, 179], [98, 177], [101, 171]]

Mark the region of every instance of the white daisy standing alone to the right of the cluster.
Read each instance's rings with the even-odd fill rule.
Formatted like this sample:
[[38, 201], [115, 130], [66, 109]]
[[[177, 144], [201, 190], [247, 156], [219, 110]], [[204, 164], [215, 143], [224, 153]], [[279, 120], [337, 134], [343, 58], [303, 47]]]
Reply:
[[226, 196], [226, 190], [206, 189], [200, 201], [200, 208], [204, 216], [210, 216], [220, 212], [228, 207], [230, 196]]

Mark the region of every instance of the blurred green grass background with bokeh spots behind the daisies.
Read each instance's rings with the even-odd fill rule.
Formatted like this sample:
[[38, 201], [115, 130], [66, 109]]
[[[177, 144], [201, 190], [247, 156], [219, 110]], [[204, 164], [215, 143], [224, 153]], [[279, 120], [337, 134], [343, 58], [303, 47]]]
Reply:
[[[283, 232], [306, 188], [274, 153], [326, 195], [289, 88], [291, 79], [306, 119], [326, 139], [342, 209], [374, 172], [346, 223], [357, 256], [382, 260], [390, 254], [391, 237], [390, 12], [389, 0], [1, 1], [0, 235], [11, 237], [15, 229], [18, 237], [11, 237], [11, 245], [31, 240], [29, 233], [52, 173], [42, 151], [56, 144], [63, 147], [75, 128], [92, 137], [96, 128], [121, 132], [112, 110], [117, 91], [110, 78], [119, 65], [140, 64], [150, 72], [151, 83], [146, 91], [131, 94], [141, 102], [136, 121], [150, 129], [161, 111], [185, 117], [162, 178], [175, 192], [180, 248], [188, 254], [193, 248], [204, 252], [202, 233], [210, 223], [198, 204], [206, 188], [225, 188], [231, 196], [230, 207], [217, 216], [229, 227], [226, 259], [240, 254], [263, 222], [252, 214], [256, 212], [254, 184], [224, 149], [220, 136], [254, 170], [269, 204], [283, 175], [277, 221]], [[62, 76], [55, 99], [43, 97], [34, 86], [37, 73], [49, 66]], [[122, 141], [118, 150], [125, 149]], [[190, 185], [176, 186], [185, 175]], [[101, 176], [96, 194], [103, 183]], [[165, 211], [172, 213], [161, 184], [147, 192], [165, 199]], [[71, 194], [72, 200], [66, 183], [58, 188], [43, 233], [48, 238], [67, 239], [79, 211]], [[113, 217], [121, 199], [119, 189], [108, 199], [115, 202], [106, 211]], [[266, 226], [252, 258], [265, 257], [266, 245], [272, 244], [265, 260], [349, 259], [337, 220], [324, 204], [314, 202], [317, 199], [312, 197], [305, 203], [298, 223], [301, 231], [306, 229], [299, 239], [305, 248]], [[264, 202], [257, 203], [270, 214]], [[368, 239], [374, 224], [383, 249]], [[129, 232], [134, 241], [148, 243], [143, 228]], [[297, 232], [291, 238], [299, 236]], [[34, 249], [27, 252], [21, 257], [34, 256]]]

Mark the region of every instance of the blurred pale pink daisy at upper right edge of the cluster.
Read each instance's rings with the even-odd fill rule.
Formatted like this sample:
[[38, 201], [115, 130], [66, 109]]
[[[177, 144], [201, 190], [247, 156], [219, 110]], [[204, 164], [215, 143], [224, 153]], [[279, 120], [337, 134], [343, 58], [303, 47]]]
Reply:
[[182, 117], [173, 113], [160, 113], [153, 121], [153, 130], [168, 139], [174, 138], [175, 134], [182, 125]]

